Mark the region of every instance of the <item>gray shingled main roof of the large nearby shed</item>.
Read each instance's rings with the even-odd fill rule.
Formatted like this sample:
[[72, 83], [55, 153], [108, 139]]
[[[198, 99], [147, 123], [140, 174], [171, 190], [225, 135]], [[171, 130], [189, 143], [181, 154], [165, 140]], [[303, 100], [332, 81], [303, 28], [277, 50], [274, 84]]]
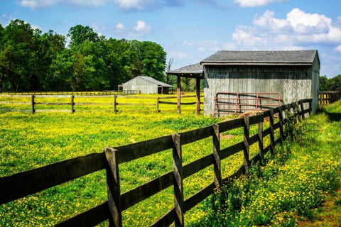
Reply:
[[[220, 50], [202, 65], [313, 65], [318, 50], [228, 51]], [[320, 61], [318, 60], [320, 64]]]

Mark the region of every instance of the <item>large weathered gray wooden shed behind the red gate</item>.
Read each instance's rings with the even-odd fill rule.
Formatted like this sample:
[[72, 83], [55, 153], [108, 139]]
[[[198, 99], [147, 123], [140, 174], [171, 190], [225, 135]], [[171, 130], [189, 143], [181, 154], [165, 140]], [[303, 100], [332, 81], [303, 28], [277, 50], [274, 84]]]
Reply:
[[[218, 51], [200, 63], [205, 80], [204, 114], [214, 114], [217, 95], [227, 93], [234, 96], [246, 93], [244, 98], [239, 95], [239, 101], [251, 100], [250, 96], [271, 99], [265, 93], [279, 94], [281, 104], [313, 98], [313, 111], [318, 108], [317, 50]], [[235, 99], [226, 99], [235, 102]]]

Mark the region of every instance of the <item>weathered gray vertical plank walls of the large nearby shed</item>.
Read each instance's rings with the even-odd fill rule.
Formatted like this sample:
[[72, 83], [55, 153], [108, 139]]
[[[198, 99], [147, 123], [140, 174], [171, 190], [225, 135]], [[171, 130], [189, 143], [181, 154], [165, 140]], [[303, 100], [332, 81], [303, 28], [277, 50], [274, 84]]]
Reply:
[[313, 97], [313, 111], [318, 108], [318, 78], [311, 66], [204, 65], [204, 72], [206, 115], [212, 115], [218, 92], [278, 92], [281, 104]]

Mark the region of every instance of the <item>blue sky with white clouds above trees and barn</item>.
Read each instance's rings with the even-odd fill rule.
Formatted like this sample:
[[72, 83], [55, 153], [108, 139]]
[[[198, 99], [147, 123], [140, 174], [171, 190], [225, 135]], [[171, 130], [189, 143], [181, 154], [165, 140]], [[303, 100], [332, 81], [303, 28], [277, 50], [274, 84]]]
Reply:
[[320, 74], [341, 74], [340, 0], [0, 0], [0, 23], [18, 18], [66, 35], [90, 26], [107, 38], [151, 40], [172, 69], [217, 50], [312, 50]]

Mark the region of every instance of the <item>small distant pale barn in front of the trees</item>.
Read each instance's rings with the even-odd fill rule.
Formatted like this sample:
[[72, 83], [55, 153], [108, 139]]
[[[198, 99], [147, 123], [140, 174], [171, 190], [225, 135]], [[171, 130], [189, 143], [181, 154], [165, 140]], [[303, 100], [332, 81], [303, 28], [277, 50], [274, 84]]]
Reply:
[[135, 90], [141, 94], [168, 94], [173, 86], [165, 84], [153, 77], [135, 77], [121, 85], [124, 91]]

